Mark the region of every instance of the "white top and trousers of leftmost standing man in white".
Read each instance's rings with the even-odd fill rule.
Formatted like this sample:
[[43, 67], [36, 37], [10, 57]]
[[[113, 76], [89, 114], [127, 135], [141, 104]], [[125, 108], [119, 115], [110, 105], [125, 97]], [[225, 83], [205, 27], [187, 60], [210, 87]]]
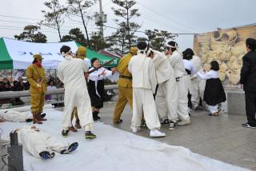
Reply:
[[63, 129], [68, 130], [71, 125], [71, 113], [74, 107], [78, 109], [78, 117], [86, 131], [92, 129], [93, 117], [90, 107], [90, 97], [86, 86], [84, 72], [88, 66], [80, 58], [65, 57], [58, 66], [58, 78], [64, 83], [64, 116]]

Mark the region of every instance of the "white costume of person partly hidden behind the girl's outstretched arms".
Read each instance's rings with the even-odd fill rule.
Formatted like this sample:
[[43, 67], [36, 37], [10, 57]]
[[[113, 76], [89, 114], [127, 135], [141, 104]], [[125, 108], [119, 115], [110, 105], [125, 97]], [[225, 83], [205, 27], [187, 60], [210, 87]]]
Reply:
[[[199, 57], [193, 56], [193, 58], [191, 59], [191, 62], [193, 62], [195, 66], [195, 69], [196, 69], [195, 72], [202, 70], [202, 63]], [[191, 94], [192, 106], [194, 109], [198, 107], [200, 102], [200, 97], [202, 99], [203, 91], [206, 85], [206, 81], [198, 78], [197, 76], [198, 76], [197, 74], [194, 74], [191, 76], [191, 85], [193, 88], [192, 89], [189, 88], [190, 94]]]

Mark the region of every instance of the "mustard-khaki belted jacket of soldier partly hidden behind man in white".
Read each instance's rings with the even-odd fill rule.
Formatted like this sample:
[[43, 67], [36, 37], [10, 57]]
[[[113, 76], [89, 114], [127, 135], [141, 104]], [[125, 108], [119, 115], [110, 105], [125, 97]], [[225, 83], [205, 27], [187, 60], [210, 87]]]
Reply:
[[[118, 73], [120, 74], [120, 78], [118, 80], [118, 86], [132, 88], [132, 75], [128, 70], [128, 64], [130, 59], [132, 58], [132, 54], [126, 54], [124, 57], [121, 58], [118, 64]], [[129, 77], [129, 78], [121, 78], [122, 76]]]

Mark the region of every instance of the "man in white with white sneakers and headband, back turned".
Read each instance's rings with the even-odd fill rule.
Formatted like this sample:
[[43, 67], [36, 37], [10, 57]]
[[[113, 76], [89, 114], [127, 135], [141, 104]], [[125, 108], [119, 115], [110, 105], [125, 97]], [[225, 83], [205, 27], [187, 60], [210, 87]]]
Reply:
[[146, 57], [146, 42], [138, 42], [138, 54], [130, 59], [128, 70], [133, 76], [133, 117], [131, 129], [134, 133], [140, 130], [142, 112], [147, 127], [150, 129], [150, 137], [165, 137], [161, 133], [158, 112], [154, 103], [154, 95], [158, 84], [155, 76], [154, 62]]

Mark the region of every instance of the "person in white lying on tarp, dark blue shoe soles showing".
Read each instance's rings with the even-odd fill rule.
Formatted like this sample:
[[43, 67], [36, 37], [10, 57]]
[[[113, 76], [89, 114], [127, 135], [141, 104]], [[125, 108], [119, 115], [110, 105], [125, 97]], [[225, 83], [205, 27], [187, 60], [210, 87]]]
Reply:
[[14, 132], [18, 133], [18, 141], [22, 143], [23, 149], [34, 157], [42, 158], [42, 160], [53, 158], [54, 152], [68, 154], [78, 148], [78, 142], [68, 146], [63, 145], [61, 141], [34, 125], [15, 129]]

